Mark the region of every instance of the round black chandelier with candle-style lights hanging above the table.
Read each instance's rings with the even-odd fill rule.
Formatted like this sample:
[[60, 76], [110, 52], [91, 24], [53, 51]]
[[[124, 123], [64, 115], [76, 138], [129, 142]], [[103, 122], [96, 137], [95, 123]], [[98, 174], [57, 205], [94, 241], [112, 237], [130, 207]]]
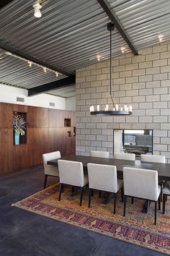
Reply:
[[112, 110], [109, 110], [109, 105], [107, 104], [104, 111], [100, 110], [100, 106], [97, 105], [97, 110], [94, 106], [90, 106], [90, 114], [94, 116], [121, 116], [121, 115], [131, 115], [132, 106], [125, 105], [124, 108], [119, 108], [118, 104], [115, 104], [112, 98], [112, 30], [114, 30], [114, 24], [112, 22], [107, 24], [107, 30], [110, 32], [110, 44], [109, 44], [109, 94], [112, 99]]

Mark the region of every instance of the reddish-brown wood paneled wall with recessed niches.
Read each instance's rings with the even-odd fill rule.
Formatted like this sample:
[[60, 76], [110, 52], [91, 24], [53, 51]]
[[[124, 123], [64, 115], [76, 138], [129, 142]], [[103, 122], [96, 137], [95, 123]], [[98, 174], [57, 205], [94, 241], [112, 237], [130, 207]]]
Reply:
[[[13, 113], [27, 113], [27, 144], [13, 145]], [[64, 127], [64, 119], [71, 127]], [[42, 163], [42, 153], [75, 153], [75, 112], [0, 103], [0, 175]], [[71, 137], [68, 132], [71, 131]]]

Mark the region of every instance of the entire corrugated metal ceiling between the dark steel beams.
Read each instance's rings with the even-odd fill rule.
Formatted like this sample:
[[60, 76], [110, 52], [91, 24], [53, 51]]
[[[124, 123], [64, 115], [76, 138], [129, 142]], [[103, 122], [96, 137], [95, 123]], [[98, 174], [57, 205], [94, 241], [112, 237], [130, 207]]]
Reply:
[[[97, 0], [47, 0], [42, 5], [40, 19], [33, 15], [34, 2], [14, 0], [0, 10], [0, 43], [71, 74], [97, 62], [97, 54], [102, 59], [109, 57], [109, 18]], [[169, 0], [107, 2], [138, 50], [157, 44], [159, 34], [164, 34], [165, 40], [170, 39]], [[128, 46], [116, 29], [113, 34], [113, 56], [117, 56], [122, 46]], [[4, 50], [0, 51], [0, 61], [0, 82], [21, 88], [33, 88], [65, 77], [55, 77], [50, 71], [44, 73], [40, 67], [28, 67], [24, 61], [6, 56]], [[62, 95], [61, 92], [69, 95], [68, 88], [53, 94]]]

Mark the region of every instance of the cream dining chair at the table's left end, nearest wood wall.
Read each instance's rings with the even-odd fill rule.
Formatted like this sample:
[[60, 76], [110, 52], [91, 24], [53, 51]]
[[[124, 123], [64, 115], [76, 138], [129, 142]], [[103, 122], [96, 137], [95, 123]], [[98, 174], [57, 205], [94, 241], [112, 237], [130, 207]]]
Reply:
[[44, 164], [44, 173], [45, 173], [44, 189], [47, 184], [48, 176], [59, 177], [58, 166], [50, 166], [49, 164], [47, 164], [48, 161], [53, 160], [55, 158], [57, 159], [61, 158], [60, 151], [54, 151], [54, 152], [42, 154], [42, 160]]

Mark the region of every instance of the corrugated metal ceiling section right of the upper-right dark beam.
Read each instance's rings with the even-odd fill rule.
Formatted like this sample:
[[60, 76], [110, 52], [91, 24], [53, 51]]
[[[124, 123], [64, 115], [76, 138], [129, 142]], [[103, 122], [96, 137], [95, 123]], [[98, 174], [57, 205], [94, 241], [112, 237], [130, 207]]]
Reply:
[[136, 48], [153, 46], [158, 35], [170, 40], [169, 0], [107, 0]]

